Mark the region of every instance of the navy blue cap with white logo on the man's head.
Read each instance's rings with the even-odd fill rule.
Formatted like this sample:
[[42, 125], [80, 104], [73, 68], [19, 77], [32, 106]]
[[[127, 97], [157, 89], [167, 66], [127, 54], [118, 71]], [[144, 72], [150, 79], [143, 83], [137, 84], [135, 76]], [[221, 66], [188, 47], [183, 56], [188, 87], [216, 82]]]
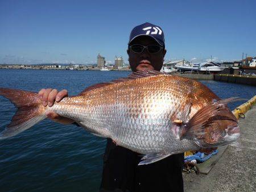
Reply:
[[143, 23], [136, 26], [131, 30], [130, 39], [128, 45], [138, 36], [150, 36], [155, 39], [159, 45], [164, 47], [164, 33], [161, 27], [151, 23]]

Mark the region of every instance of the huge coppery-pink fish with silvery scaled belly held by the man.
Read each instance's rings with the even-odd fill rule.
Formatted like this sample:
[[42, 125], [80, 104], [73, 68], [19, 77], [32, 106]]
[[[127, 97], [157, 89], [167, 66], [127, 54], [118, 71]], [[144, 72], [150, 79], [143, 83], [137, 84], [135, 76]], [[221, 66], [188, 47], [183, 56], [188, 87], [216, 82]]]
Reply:
[[73, 119], [93, 135], [141, 153], [139, 165], [170, 155], [227, 145], [240, 136], [227, 103], [207, 86], [155, 70], [87, 87], [44, 107], [38, 93], [0, 88], [17, 108], [0, 139], [15, 136], [46, 119], [47, 111]]

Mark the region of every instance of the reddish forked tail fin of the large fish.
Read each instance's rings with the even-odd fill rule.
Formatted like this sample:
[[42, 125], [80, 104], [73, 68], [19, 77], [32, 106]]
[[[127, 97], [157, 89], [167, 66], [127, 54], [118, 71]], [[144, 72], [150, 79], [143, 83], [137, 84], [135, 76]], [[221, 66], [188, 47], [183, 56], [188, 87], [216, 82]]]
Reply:
[[0, 139], [17, 135], [46, 118], [46, 109], [37, 93], [0, 88], [0, 95], [17, 107], [11, 123], [0, 133]]

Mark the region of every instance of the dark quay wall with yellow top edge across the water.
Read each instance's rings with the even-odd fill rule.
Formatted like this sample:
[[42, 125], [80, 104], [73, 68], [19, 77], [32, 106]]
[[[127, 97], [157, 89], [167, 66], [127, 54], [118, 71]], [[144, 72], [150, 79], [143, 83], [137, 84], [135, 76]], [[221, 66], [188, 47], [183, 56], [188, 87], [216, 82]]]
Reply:
[[234, 74], [214, 74], [214, 81], [232, 82], [234, 84], [245, 84], [256, 86], [256, 76], [241, 76]]

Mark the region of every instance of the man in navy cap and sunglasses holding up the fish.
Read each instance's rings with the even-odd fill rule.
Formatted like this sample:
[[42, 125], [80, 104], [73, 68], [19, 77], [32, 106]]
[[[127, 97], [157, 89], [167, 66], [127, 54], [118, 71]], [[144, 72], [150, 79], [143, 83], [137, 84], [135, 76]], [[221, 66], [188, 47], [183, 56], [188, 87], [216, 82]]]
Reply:
[[[127, 54], [133, 72], [143, 69], [160, 71], [166, 55], [163, 30], [151, 23], [133, 28]], [[66, 97], [68, 92], [42, 89], [39, 95], [42, 96], [44, 106], [52, 106], [55, 101]], [[74, 123], [53, 112], [47, 116], [59, 123]], [[138, 166], [141, 158], [140, 154], [117, 146], [108, 139], [100, 191], [183, 191], [183, 154]]]

